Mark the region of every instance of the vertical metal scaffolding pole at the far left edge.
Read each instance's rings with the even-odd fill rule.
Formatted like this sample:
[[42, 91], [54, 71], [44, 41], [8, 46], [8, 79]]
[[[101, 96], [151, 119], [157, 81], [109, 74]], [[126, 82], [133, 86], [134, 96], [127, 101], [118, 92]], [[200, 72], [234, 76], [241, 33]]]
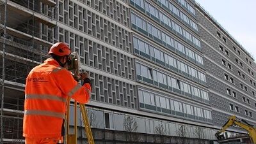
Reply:
[[3, 43], [3, 75], [2, 75], [2, 96], [1, 96], [1, 144], [3, 143], [3, 109], [4, 109], [4, 79], [5, 79], [5, 69], [4, 69], [4, 55], [5, 55], [5, 48], [6, 48], [6, 18], [7, 18], [7, 0], [4, 3], [4, 43]]

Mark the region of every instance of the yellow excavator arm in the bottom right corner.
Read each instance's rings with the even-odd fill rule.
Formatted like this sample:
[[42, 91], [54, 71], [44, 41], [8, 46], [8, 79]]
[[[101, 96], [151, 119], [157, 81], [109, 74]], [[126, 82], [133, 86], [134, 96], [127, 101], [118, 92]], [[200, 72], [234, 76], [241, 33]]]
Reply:
[[253, 141], [253, 143], [256, 144], [256, 129], [253, 128], [253, 126], [248, 124], [247, 122], [245, 122], [245, 121], [243, 121], [243, 122], [237, 120], [235, 115], [230, 116], [228, 118], [228, 121], [226, 122], [226, 124], [224, 124], [223, 127], [220, 129], [220, 131], [218, 131], [215, 134], [216, 138], [218, 140], [223, 139], [224, 136], [223, 136], [223, 134], [221, 135], [221, 133], [225, 132], [228, 127], [231, 127], [234, 124], [236, 124], [237, 126], [241, 127], [242, 129], [245, 129], [249, 133], [249, 136], [250, 136], [251, 140]]

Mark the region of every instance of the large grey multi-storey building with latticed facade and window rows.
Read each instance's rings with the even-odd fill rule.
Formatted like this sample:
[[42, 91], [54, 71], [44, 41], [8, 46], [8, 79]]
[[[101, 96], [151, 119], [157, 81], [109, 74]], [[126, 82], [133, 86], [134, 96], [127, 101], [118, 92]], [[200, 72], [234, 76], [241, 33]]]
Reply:
[[[96, 143], [214, 143], [229, 115], [255, 124], [255, 62], [193, 0], [2, 0], [0, 8], [4, 143], [24, 143], [26, 75], [57, 41], [92, 78]], [[231, 127], [225, 136], [244, 134]]]

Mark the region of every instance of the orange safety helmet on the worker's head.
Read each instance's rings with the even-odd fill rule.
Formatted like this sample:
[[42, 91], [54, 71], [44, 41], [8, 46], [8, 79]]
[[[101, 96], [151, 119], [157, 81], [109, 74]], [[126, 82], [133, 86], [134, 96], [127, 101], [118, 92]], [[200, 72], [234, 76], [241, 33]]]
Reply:
[[71, 50], [68, 47], [68, 45], [66, 45], [65, 43], [59, 42], [59, 43], [54, 43], [52, 45], [48, 54], [55, 54], [62, 57], [65, 55], [70, 55], [70, 53], [71, 53]]

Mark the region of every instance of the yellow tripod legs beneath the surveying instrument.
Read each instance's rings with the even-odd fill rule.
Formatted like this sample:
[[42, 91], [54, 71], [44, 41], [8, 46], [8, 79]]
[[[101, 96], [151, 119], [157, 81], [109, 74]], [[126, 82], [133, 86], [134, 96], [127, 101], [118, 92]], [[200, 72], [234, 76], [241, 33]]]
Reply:
[[[84, 104], [79, 104], [80, 110], [82, 113], [82, 119], [84, 123], [84, 129], [86, 133], [86, 138], [88, 139], [89, 144], [94, 144], [93, 140], [93, 135], [92, 135], [92, 130], [89, 124], [89, 120], [87, 117], [87, 112], [85, 109]], [[70, 118], [70, 98], [68, 99], [68, 104], [67, 104], [67, 117], [66, 117], [66, 134], [65, 134], [65, 140], [67, 141], [67, 144], [77, 144], [77, 102], [75, 101], [74, 103], [74, 134], [69, 134], [69, 118]]]

